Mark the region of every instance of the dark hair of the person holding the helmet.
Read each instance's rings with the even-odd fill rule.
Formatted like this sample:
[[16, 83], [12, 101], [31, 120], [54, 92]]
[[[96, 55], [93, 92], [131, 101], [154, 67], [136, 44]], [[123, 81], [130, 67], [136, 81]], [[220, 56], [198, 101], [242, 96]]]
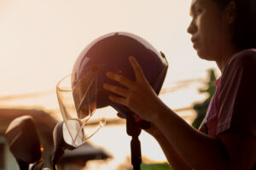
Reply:
[[256, 48], [256, 1], [212, 0], [224, 9], [231, 1], [236, 3], [236, 20], [232, 41], [238, 49]]

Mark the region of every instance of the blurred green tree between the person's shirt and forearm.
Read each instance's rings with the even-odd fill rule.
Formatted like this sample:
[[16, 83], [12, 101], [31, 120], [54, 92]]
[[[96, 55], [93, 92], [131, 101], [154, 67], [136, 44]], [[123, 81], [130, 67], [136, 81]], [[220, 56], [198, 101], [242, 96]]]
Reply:
[[201, 122], [203, 121], [204, 117], [207, 114], [207, 107], [210, 104], [210, 101], [212, 99], [212, 96], [215, 92], [215, 81], [216, 81], [216, 76], [214, 74], [214, 70], [210, 69], [207, 71], [208, 72], [208, 82], [206, 83], [206, 88], [205, 89], [199, 89], [200, 94], [208, 94], [208, 97], [206, 100], [204, 100], [201, 103], [195, 103], [193, 105], [193, 109], [196, 111], [197, 117], [195, 118], [195, 121], [192, 123], [192, 126], [195, 128], [199, 128], [201, 125]]

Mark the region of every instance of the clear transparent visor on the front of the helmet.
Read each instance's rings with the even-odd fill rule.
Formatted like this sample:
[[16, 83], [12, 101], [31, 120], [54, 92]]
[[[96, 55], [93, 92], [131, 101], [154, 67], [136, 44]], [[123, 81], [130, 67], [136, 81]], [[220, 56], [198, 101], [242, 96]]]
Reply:
[[[84, 144], [106, 122], [106, 110], [96, 109], [97, 72], [89, 71], [75, 85], [73, 75], [61, 79], [56, 86], [61, 116], [74, 146]], [[65, 130], [65, 129], [64, 129]]]

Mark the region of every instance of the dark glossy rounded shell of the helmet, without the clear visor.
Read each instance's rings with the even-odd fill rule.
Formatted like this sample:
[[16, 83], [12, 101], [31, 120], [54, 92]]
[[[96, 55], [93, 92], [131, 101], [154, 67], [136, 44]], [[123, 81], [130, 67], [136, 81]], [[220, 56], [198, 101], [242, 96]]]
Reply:
[[117, 72], [132, 81], [135, 80], [134, 71], [128, 60], [130, 56], [137, 59], [148, 82], [155, 93], [159, 94], [166, 77], [166, 59], [142, 37], [127, 32], [109, 33], [90, 42], [73, 65], [72, 86], [74, 87], [91, 68], [97, 67], [96, 108], [111, 105], [125, 116], [131, 111], [124, 105], [110, 101], [110, 93], [102, 86], [104, 83], [121, 86], [106, 77], [107, 71]]

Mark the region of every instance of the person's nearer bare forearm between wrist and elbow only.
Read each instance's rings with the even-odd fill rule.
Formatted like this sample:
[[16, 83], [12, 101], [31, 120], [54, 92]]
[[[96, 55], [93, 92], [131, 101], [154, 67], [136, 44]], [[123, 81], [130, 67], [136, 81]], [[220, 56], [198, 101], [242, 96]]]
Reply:
[[225, 151], [217, 139], [197, 131], [166, 105], [154, 118], [154, 124], [166, 136], [177, 153], [195, 169], [228, 167]]

